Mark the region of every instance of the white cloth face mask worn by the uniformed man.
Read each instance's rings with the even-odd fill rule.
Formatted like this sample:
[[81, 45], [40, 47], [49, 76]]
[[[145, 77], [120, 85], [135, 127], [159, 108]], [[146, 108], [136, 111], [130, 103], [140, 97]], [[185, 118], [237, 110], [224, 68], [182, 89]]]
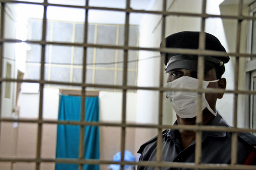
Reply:
[[[218, 82], [219, 80], [203, 81], [203, 89], [206, 89], [210, 82]], [[198, 85], [198, 79], [189, 76], [182, 76], [172, 82], [166, 83], [166, 88], [187, 88], [196, 89]], [[197, 105], [197, 92], [173, 92], [166, 91], [166, 95], [172, 104], [173, 110], [181, 118], [193, 118], [196, 117], [196, 105]], [[214, 112], [207, 100], [204, 93], [202, 95], [202, 111], [207, 108], [214, 116], [217, 112]]]

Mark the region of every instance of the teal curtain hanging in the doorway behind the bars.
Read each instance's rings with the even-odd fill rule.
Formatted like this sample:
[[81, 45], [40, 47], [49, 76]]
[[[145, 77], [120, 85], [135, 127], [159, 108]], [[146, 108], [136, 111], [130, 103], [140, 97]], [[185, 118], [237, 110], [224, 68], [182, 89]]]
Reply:
[[[86, 97], [85, 120], [98, 122], [98, 97]], [[60, 96], [58, 120], [79, 121], [81, 113], [81, 97]], [[56, 158], [77, 159], [79, 154], [80, 126], [58, 125]], [[84, 158], [99, 159], [99, 127], [85, 126]], [[56, 163], [56, 170], [77, 170], [77, 164]], [[99, 170], [99, 165], [84, 165], [84, 170]]]

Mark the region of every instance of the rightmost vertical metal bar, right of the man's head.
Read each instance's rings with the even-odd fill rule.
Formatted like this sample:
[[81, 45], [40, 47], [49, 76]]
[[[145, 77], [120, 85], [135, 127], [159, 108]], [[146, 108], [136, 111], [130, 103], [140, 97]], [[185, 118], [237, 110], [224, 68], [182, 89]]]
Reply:
[[[243, 7], [243, 0], [239, 0], [238, 3], [238, 16], [242, 16], [242, 7]], [[236, 46], [235, 51], [239, 53], [240, 51], [240, 37], [241, 37], [241, 26], [242, 20], [237, 21], [237, 32], [236, 32]], [[239, 56], [235, 57], [235, 84], [234, 90], [238, 90], [238, 71], [239, 71]], [[233, 126], [237, 127], [237, 102], [238, 102], [238, 94], [234, 94], [234, 111], [233, 111]], [[232, 140], [231, 140], [231, 164], [236, 164], [237, 161], [237, 134], [232, 133]]]

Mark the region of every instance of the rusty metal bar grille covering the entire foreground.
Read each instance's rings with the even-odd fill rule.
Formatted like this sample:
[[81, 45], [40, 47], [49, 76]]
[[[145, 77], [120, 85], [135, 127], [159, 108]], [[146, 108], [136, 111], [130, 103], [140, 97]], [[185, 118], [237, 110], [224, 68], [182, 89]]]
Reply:
[[[180, 168], [195, 168], [195, 169], [234, 169], [234, 170], [254, 170], [255, 166], [242, 166], [237, 165], [237, 134], [238, 132], [256, 132], [256, 129], [246, 129], [246, 128], [237, 128], [237, 105], [238, 105], [238, 94], [246, 94], [246, 95], [256, 95], [256, 92], [252, 92], [249, 90], [238, 90], [238, 68], [239, 68], [239, 58], [244, 57], [256, 57], [256, 54], [245, 54], [240, 53], [240, 38], [241, 38], [241, 24], [243, 20], [256, 20], [256, 17], [243, 16], [242, 15], [242, 5], [243, 0], [239, 0], [239, 9], [238, 15], [213, 15], [206, 14], [206, 3], [207, 0], [202, 1], [202, 12], [201, 14], [193, 14], [193, 13], [183, 13], [183, 12], [168, 12], [166, 11], [166, 0], [163, 0], [162, 10], [161, 11], [153, 11], [153, 10], [134, 10], [130, 8], [130, 0], [126, 0], [126, 8], [109, 8], [109, 7], [91, 7], [89, 6], [89, 0], [86, 0], [85, 6], [77, 6], [77, 5], [64, 5], [64, 4], [53, 4], [48, 3], [47, 0], [44, 0], [43, 3], [35, 3], [35, 2], [26, 2], [26, 1], [16, 1], [16, 0], [0, 0], [1, 2], [1, 23], [0, 23], [0, 88], [3, 82], [33, 82], [40, 84], [40, 98], [39, 98], [39, 119], [9, 119], [9, 118], [0, 118], [0, 122], [27, 122], [27, 123], [37, 123], [38, 124], [38, 133], [37, 133], [37, 152], [35, 159], [21, 159], [21, 158], [3, 158], [0, 157], [0, 162], [31, 162], [36, 163], [36, 170], [40, 170], [40, 163], [77, 163], [79, 164], [79, 170], [83, 169], [84, 164], [120, 164], [121, 169], [124, 169], [124, 165], [143, 165], [143, 166], [154, 166], [157, 167], [158, 170], [161, 167], [180, 167]], [[4, 38], [4, 5], [5, 3], [24, 3], [24, 4], [35, 4], [41, 5], [44, 7], [43, 14], [43, 24], [42, 24], [42, 41], [21, 41], [18, 39], [8, 39]], [[84, 43], [68, 43], [68, 42], [50, 42], [46, 41], [46, 11], [47, 7], [55, 6], [55, 7], [73, 7], [85, 9], [85, 21], [84, 21]], [[125, 38], [124, 45], [100, 45], [100, 44], [88, 44], [88, 10], [111, 10], [111, 11], [121, 11], [126, 13], [125, 19]], [[161, 40], [165, 38], [165, 20], [167, 16], [186, 16], [186, 17], [200, 17], [201, 20], [201, 33], [200, 33], [200, 47], [198, 50], [184, 50], [177, 48], [165, 48], [165, 43], [162, 44], [161, 48], [141, 48], [141, 47], [131, 47], [129, 46], [129, 18], [130, 13], [143, 13], [143, 14], [158, 14], [162, 15], [162, 24], [161, 24]], [[236, 37], [236, 51], [234, 53], [227, 53], [230, 56], [235, 56], [235, 87], [234, 90], [221, 90], [221, 89], [203, 89], [203, 70], [204, 70], [204, 57], [205, 55], [214, 54], [215, 56], [222, 56], [226, 53], [224, 52], [216, 52], [205, 50], [205, 20], [207, 18], [221, 18], [221, 19], [236, 19], [237, 20], [237, 37]], [[40, 79], [39, 80], [21, 80], [21, 79], [11, 79], [11, 78], [3, 78], [2, 69], [3, 69], [3, 44], [4, 42], [26, 42], [32, 44], [40, 44], [42, 47], [41, 51], [41, 70], [40, 70]], [[46, 81], [44, 78], [45, 72], [45, 47], [46, 44], [52, 45], [67, 45], [67, 46], [77, 46], [83, 47], [83, 75], [82, 75], [82, 83], [70, 83], [70, 82], [55, 82], [55, 81]], [[86, 80], [86, 65], [87, 65], [87, 48], [112, 48], [112, 49], [121, 49], [124, 51], [124, 66], [123, 66], [123, 85], [95, 85], [95, 84], [87, 84]], [[127, 63], [128, 63], [128, 50], [147, 50], [147, 51], [160, 51], [161, 54], [161, 62], [160, 62], [160, 84], [159, 87], [137, 87], [137, 86], [128, 86], [127, 85]], [[197, 89], [182, 89], [182, 88], [164, 88], [163, 87], [163, 61], [165, 53], [179, 53], [179, 54], [196, 54], [199, 56], [198, 59], [198, 79], [199, 84]], [[45, 84], [55, 84], [55, 85], [73, 85], [79, 86], [82, 89], [82, 100], [81, 100], [81, 119], [80, 121], [52, 121], [52, 120], [43, 120], [42, 119], [42, 108], [43, 108], [43, 88]], [[111, 123], [111, 122], [86, 122], [85, 119], [85, 90], [87, 87], [93, 88], [115, 88], [123, 90], [123, 98], [122, 98], [122, 122], [121, 123]], [[126, 123], [126, 98], [127, 98], [127, 90], [153, 90], [159, 92], [159, 108], [158, 108], [158, 125], [153, 124], [131, 124]], [[197, 117], [196, 117], [196, 125], [194, 126], [171, 126], [171, 125], [162, 125], [162, 105], [163, 105], [163, 92], [166, 90], [172, 91], [187, 91], [187, 92], [197, 92], [198, 93], [198, 105], [197, 105]], [[202, 125], [202, 95], [203, 93], [232, 93], [234, 94], [234, 111], [233, 111], [233, 125], [234, 127], [219, 127], [219, 126], [203, 126]], [[1, 97], [0, 97], [1, 102]], [[2, 106], [1, 106], [2, 107]], [[0, 114], [1, 115], [1, 114]], [[42, 159], [41, 158], [41, 145], [42, 145], [42, 125], [43, 124], [63, 124], [63, 125], [76, 125], [80, 126], [80, 142], [79, 142], [79, 159], [70, 160], [70, 159]], [[84, 159], [84, 127], [85, 126], [115, 126], [121, 127], [121, 161], [107, 161], [107, 160], [90, 160]], [[136, 128], [156, 128], [158, 129], [158, 142], [157, 142], [157, 161], [152, 162], [126, 162], [124, 161], [124, 152], [125, 152], [125, 137], [126, 137], [126, 128], [127, 127], [136, 127]], [[194, 130], [196, 132], [196, 157], [195, 163], [174, 163], [174, 162], [164, 162], [161, 161], [162, 157], [162, 129], [186, 129], [186, 130]], [[201, 163], [201, 137], [203, 131], [226, 131], [232, 132], [232, 149], [231, 149], [231, 164], [205, 164]]]

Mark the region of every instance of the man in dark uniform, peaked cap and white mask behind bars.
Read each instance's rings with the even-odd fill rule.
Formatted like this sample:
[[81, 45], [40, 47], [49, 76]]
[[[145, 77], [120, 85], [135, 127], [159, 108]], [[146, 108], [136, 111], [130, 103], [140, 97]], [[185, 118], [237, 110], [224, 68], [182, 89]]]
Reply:
[[[167, 48], [198, 49], [199, 32], [179, 32], [165, 38]], [[205, 33], [205, 49], [225, 51], [221, 42], [211, 34]], [[166, 73], [169, 88], [197, 88], [197, 56], [184, 54], [165, 54]], [[226, 88], [226, 79], [221, 78], [225, 71], [224, 63], [228, 56], [205, 56], [203, 88]], [[166, 92], [176, 113], [176, 125], [195, 125], [196, 92]], [[203, 125], [229, 126], [217, 112], [217, 99], [223, 94], [206, 93], [202, 97]], [[225, 113], [223, 113], [225, 114]], [[157, 137], [140, 146], [140, 161], [156, 161]], [[238, 164], [256, 164], [256, 136], [251, 133], [238, 133]], [[203, 132], [202, 163], [231, 163], [231, 133]], [[162, 134], [162, 161], [195, 162], [195, 132], [191, 130], [167, 129]], [[138, 170], [154, 170], [155, 167], [138, 166]], [[178, 170], [180, 168], [171, 168]], [[170, 170], [162, 167], [162, 170]]]

